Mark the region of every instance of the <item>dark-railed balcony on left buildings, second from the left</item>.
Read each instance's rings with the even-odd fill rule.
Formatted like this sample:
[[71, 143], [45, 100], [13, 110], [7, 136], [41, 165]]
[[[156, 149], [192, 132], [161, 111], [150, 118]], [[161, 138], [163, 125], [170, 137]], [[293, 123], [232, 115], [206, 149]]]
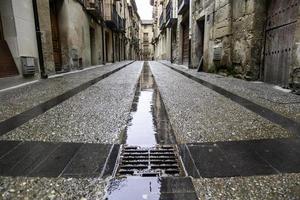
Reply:
[[110, 2], [110, 0], [104, 1], [104, 20], [107, 27], [112, 30], [118, 30], [119, 15], [116, 7]]

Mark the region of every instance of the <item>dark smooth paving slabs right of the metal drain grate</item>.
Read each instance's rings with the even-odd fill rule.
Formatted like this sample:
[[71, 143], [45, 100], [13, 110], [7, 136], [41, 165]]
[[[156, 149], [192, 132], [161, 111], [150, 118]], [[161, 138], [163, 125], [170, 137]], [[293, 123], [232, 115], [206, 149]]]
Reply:
[[187, 173], [194, 178], [300, 172], [300, 139], [182, 144]]

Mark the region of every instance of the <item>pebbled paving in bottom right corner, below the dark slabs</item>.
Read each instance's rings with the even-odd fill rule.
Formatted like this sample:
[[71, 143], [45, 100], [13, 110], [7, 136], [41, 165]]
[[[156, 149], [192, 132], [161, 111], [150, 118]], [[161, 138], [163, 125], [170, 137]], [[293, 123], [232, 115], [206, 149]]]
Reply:
[[197, 195], [207, 199], [300, 199], [300, 174], [193, 179]]

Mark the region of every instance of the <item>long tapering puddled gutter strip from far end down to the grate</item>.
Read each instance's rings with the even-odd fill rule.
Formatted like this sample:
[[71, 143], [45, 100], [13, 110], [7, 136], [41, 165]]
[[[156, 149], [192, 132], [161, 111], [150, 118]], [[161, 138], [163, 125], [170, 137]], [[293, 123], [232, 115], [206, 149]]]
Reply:
[[174, 144], [175, 137], [153, 75], [145, 62], [126, 129], [126, 144], [151, 147]]

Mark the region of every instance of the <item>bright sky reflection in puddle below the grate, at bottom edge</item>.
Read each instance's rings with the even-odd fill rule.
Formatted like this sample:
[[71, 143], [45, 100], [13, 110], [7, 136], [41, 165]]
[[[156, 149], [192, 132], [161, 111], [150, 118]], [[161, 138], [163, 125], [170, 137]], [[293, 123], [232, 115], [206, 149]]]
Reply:
[[110, 182], [107, 200], [159, 200], [161, 180], [158, 177], [116, 178]]

